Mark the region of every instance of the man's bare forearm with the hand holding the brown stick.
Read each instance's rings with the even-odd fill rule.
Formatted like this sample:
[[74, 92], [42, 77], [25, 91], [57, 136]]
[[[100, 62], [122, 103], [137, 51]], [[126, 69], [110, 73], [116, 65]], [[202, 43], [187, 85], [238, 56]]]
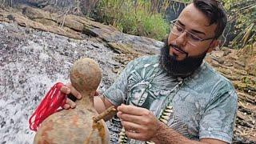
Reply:
[[203, 138], [198, 141], [190, 140], [175, 130], [169, 128], [158, 119], [149, 110], [136, 106], [118, 106], [118, 118], [121, 119], [122, 126], [126, 130], [129, 138], [141, 141], [153, 141], [155, 143], [210, 143], [222, 144], [218, 139]]

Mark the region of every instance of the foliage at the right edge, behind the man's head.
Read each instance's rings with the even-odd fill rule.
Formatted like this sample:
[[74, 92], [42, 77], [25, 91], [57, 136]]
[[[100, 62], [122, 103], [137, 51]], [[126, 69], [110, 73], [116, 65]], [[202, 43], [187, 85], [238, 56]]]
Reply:
[[254, 0], [223, 0], [230, 23], [234, 28], [231, 47], [241, 48], [256, 42], [256, 3]]

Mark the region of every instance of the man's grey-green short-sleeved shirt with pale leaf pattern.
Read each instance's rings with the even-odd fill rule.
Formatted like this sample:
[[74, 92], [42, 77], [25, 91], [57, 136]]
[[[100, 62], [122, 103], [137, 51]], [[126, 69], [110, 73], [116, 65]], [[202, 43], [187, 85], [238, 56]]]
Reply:
[[[173, 78], [162, 70], [158, 58], [153, 55], [130, 62], [103, 95], [115, 106], [140, 106], [157, 118], [166, 106], [172, 106], [167, 126], [186, 138], [232, 142], [238, 102], [231, 82], [206, 62], [188, 78]], [[120, 120], [115, 116], [107, 125], [111, 143], [118, 143]], [[145, 143], [130, 138], [127, 141]]]

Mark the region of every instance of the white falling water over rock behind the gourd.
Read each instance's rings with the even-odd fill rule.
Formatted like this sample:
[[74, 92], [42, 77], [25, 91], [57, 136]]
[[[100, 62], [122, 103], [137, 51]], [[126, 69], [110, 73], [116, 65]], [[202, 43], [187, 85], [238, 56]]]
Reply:
[[72, 63], [89, 57], [103, 70], [101, 90], [116, 78], [114, 52], [88, 39], [0, 23], [0, 142], [32, 143], [28, 119], [55, 82], [69, 82]]

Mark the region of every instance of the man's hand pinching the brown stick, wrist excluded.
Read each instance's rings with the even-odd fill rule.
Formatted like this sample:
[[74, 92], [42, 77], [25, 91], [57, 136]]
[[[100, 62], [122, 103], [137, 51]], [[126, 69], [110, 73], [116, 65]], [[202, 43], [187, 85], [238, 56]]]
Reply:
[[129, 138], [149, 141], [158, 130], [158, 119], [150, 110], [122, 104], [118, 106], [118, 118]]

